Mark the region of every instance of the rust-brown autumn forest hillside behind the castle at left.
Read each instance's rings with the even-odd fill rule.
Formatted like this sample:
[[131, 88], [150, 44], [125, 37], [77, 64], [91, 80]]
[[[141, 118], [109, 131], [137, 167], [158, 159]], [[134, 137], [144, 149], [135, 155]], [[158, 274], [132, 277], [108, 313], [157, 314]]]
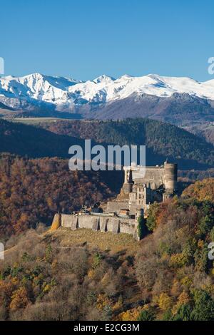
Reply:
[[58, 158], [27, 159], [0, 156], [0, 237], [50, 225], [58, 210], [77, 210], [86, 200], [116, 195], [121, 171], [83, 172], [68, 170], [68, 161]]

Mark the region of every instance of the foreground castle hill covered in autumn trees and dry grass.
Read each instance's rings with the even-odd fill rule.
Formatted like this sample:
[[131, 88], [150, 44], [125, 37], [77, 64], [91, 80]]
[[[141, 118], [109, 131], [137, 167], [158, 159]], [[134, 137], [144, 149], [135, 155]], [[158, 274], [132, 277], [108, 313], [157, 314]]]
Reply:
[[41, 227], [11, 237], [0, 264], [0, 319], [213, 321], [213, 198], [212, 179], [152, 205], [151, 234], [141, 242]]

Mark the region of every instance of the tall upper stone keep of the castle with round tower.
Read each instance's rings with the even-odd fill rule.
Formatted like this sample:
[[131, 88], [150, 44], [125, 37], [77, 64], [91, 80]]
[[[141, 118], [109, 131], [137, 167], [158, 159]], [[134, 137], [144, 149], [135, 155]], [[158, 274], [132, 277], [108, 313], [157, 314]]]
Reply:
[[178, 165], [165, 161], [163, 165], [125, 166], [121, 194], [116, 202], [108, 202], [108, 210], [128, 208], [131, 215], [146, 212], [153, 202], [163, 202], [177, 191]]

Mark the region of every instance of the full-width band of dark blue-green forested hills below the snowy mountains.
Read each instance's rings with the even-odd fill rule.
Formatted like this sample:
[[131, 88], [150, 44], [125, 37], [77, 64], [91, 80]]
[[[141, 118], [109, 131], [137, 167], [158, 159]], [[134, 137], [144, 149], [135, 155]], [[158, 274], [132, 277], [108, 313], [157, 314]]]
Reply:
[[[43, 129], [46, 128], [46, 129]], [[84, 139], [103, 145], [146, 145], [146, 164], [163, 164], [166, 158], [181, 170], [205, 170], [214, 166], [214, 147], [205, 140], [155, 120], [56, 121], [39, 126], [0, 120], [0, 152], [29, 158], [68, 158], [73, 144], [84, 148]]]

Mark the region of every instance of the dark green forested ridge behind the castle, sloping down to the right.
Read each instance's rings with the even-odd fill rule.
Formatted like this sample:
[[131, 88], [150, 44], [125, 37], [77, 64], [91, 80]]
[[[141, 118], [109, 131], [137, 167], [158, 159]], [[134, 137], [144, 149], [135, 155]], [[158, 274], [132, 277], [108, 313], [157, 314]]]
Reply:
[[177, 161], [180, 169], [214, 166], [213, 145], [175, 125], [156, 120], [60, 120], [40, 126], [56, 134], [91, 138], [99, 143], [146, 145], [148, 165], [161, 164], [168, 157]]

